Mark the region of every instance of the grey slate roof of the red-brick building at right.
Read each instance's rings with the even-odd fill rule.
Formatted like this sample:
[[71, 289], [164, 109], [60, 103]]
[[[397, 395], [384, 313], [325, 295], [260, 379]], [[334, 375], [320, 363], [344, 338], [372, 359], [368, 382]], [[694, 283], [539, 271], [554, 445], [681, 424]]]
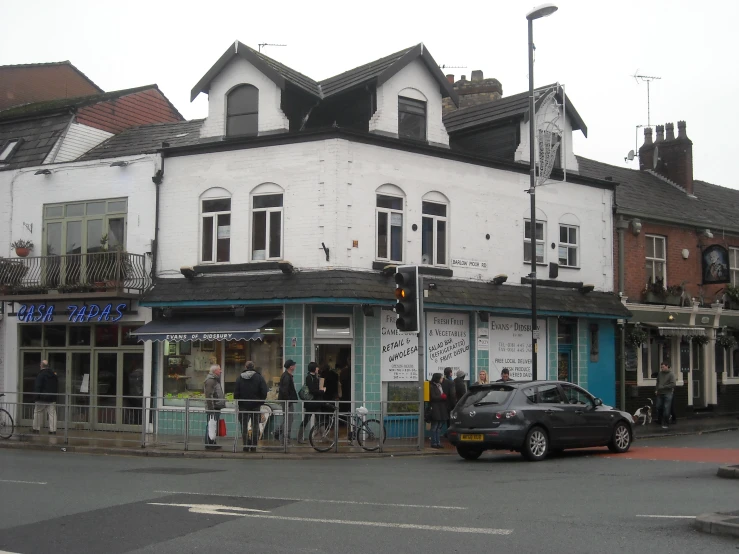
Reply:
[[680, 187], [638, 169], [618, 167], [577, 156], [579, 174], [605, 179], [616, 187], [617, 213], [696, 227], [739, 232], [739, 190], [693, 181], [691, 198]]

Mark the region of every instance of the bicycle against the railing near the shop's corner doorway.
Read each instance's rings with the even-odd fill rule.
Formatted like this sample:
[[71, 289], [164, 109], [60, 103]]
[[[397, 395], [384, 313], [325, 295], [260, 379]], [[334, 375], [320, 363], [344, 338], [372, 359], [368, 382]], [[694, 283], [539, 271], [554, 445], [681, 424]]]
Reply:
[[[333, 406], [332, 406], [333, 407]], [[313, 426], [308, 435], [310, 445], [318, 452], [328, 452], [336, 444], [335, 426], [343, 421], [347, 427], [349, 444], [357, 443], [367, 452], [374, 452], [380, 448], [380, 441], [385, 442], [387, 437], [385, 426], [376, 419], [367, 419], [369, 411], [359, 406], [354, 414], [339, 414], [334, 408], [332, 414], [317, 414], [318, 423]]]

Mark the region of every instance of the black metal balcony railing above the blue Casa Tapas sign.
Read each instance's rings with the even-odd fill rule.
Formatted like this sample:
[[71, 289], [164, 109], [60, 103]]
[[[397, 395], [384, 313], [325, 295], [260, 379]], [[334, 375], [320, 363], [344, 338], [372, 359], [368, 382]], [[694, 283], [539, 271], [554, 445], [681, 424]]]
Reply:
[[119, 250], [93, 254], [0, 258], [0, 296], [133, 293], [151, 286], [146, 256]]

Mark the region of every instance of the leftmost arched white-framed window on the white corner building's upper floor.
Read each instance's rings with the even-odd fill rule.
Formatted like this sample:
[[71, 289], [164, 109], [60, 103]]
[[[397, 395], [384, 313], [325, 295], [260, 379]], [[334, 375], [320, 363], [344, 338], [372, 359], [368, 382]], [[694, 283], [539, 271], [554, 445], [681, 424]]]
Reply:
[[200, 261], [231, 261], [231, 193], [212, 188], [200, 196]]

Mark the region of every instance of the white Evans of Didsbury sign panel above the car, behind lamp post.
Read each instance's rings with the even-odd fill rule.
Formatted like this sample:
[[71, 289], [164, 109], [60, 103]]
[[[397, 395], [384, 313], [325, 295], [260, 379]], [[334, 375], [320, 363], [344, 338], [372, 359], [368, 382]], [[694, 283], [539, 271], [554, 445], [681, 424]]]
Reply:
[[[539, 332], [546, 337], [546, 321], [538, 320]], [[546, 376], [546, 344], [537, 343], [539, 379]], [[490, 380], [507, 367], [511, 379], [526, 381], [531, 379], [531, 320], [512, 318], [490, 318]]]

